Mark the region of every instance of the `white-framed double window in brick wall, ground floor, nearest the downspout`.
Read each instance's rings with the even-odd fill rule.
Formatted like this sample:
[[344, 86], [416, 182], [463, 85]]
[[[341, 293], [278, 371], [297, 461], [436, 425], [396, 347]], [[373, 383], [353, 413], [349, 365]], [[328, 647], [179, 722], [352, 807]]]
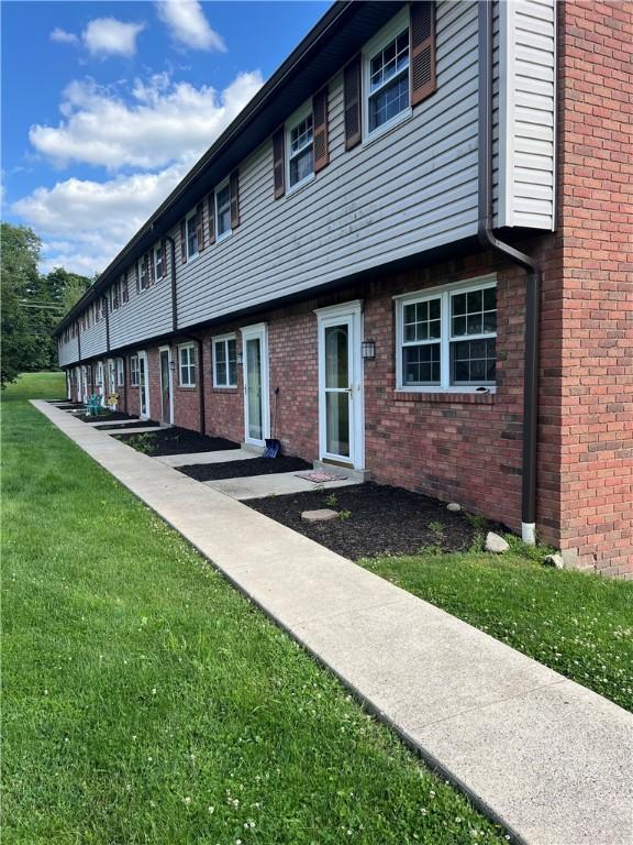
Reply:
[[396, 341], [398, 389], [495, 389], [495, 277], [396, 297]]

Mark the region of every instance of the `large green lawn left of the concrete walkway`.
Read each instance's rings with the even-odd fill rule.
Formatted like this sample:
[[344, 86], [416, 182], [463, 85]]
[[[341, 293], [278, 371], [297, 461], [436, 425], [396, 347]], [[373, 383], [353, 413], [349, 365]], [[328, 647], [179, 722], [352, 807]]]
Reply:
[[63, 391], [3, 395], [3, 842], [502, 842], [26, 403]]

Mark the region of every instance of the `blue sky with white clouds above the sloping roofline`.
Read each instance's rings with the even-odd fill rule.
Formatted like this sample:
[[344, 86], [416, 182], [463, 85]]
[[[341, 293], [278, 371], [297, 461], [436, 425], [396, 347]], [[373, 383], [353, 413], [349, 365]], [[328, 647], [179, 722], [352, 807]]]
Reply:
[[2, 219], [102, 270], [329, 6], [4, 0]]

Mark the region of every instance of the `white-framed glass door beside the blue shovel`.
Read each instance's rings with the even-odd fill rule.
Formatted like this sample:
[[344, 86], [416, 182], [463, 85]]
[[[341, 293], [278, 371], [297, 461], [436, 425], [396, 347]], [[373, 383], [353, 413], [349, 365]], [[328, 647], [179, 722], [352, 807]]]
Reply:
[[268, 336], [266, 323], [242, 329], [244, 367], [244, 441], [264, 446], [269, 431]]

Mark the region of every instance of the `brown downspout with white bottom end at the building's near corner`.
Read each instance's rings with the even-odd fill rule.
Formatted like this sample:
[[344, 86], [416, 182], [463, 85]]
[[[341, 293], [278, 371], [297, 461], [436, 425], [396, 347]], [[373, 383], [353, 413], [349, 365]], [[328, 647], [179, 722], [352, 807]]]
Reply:
[[541, 267], [535, 259], [500, 241], [492, 231], [492, 3], [478, 0], [479, 15], [479, 224], [482, 246], [502, 253], [528, 271], [523, 364], [523, 454], [521, 536], [536, 544], [536, 450], [538, 411], [538, 316]]

